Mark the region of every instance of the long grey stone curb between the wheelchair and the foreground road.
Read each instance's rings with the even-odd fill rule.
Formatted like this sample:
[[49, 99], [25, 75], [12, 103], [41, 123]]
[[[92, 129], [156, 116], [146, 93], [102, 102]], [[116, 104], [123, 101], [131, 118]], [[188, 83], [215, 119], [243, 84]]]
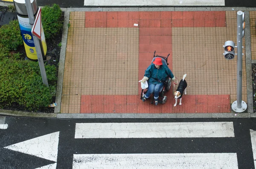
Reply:
[[95, 118], [251, 118], [255, 113], [90, 113], [90, 114], [61, 114], [61, 113], [37, 113], [20, 112], [12, 110], [0, 110], [0, 115], [14, 117], [41, 117], [57, 119], [95, 119]]

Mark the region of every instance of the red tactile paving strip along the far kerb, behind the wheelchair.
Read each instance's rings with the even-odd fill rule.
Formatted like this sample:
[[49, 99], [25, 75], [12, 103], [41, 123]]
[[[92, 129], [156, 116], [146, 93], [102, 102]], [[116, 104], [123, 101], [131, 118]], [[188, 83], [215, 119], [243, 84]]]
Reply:
[[[138, 26], [134, 26], [138, 24]], [[225, 27], [225, 11], [87, 11], [85, 27]]]

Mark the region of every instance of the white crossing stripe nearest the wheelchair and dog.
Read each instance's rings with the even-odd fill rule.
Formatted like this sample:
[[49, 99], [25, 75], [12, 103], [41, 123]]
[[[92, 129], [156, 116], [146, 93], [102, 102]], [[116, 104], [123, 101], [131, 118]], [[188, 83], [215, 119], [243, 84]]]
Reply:
[[235, 137], [233, 122], [76, 123], [75, 138]]

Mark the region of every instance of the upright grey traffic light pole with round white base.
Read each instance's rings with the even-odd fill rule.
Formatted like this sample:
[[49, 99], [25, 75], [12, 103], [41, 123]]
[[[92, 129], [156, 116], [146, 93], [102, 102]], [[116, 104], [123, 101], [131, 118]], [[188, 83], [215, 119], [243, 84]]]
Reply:
[[237, 12], [237, 89], [236, 101], [232, 103], [232, 109], [235, 112], [244, 112], [247, 104], [242, 101], [242, 52], [243, 52], [243, 18], [244, 12]]

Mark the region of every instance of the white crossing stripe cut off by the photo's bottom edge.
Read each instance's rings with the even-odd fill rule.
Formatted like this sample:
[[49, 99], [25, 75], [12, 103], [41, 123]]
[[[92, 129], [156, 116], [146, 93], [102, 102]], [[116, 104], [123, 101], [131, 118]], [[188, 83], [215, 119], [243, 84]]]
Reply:
[[73, 169], [238, 169], [236, 153], [81, 154]]

